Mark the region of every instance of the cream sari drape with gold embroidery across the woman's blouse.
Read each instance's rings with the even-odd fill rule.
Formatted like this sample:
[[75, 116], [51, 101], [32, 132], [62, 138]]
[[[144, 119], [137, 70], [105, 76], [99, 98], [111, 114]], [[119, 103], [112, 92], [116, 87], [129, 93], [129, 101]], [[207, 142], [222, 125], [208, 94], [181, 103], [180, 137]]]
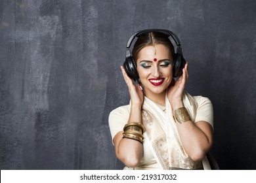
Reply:
[[[184, 93], [183, 103], [194, 122], [196, 102], [191, 95]], [[146, 129], [144, 139], [150, 142], [148, 144], [159, 167], [162, 169], [211, 169], [206, 156], [202, 161], [195, 162], [186, 154], [167, 97], [165, 97], [165, 108], [145, 97], [142, 122]]]

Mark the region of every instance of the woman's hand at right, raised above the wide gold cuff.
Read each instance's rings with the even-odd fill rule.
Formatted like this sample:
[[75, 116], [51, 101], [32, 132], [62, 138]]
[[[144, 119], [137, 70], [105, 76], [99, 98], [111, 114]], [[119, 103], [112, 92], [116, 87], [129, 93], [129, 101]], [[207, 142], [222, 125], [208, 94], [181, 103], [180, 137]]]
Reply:
[[167, 90], [167, 98], [173, 108], [182, 107], [182, 95], [184, 93], [185, 84], [188, 80], [188, 63], [182, 69], [182, 75], [175, 82], [174, 80], [169, 85]]

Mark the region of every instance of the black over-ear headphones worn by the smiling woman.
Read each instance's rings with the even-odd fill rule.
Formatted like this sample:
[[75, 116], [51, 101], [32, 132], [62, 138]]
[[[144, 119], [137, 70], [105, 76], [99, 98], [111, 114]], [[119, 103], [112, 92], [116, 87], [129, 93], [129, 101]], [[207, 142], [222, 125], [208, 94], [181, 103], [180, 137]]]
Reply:
[[133, 34], [129, 41], [127, 42], [126, 46], [126, 56], [125, 56], [125, 62], [123, 63], [123, 67], [125, 69], [125, 72], [127, 75], [133, 79], [135, 82], [140, 83], [139, 73], [137, 71], [137, 66], [135, 63], [135, 59], [133, 58], [131, 54], [131, 43], [135, 39], [135, 37], [140, 37], [143, 33], [150, 33], [150, 32], [158, 32], [163, 33], [167, 37], [172, 37], [173, 41], [175, 41], [177, 48], [175, 52], [175, 56], [173, 59], [173, 77], [176, 78], [178, 76], [182, 75], [182, 69], [184, 68], [186, 61], [182, 56], [182, 50], [181, 50], [181, 42], [179, 41], [179, 38], [175, 33], [172, 31], [166, 30], [166, 29], [144, 29], [142, 31], [138, 31], [137, 33]]

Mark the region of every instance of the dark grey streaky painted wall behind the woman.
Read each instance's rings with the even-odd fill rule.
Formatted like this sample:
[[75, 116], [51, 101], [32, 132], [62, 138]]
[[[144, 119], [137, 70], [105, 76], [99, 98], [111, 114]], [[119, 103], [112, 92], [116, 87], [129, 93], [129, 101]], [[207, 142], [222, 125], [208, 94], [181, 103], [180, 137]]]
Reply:
[[129, 37], [181, 39], [221, 169], [256, 169], [256, 1], [0, 1], [0, 169], [122, 169], [108, 114], [129, 102]]

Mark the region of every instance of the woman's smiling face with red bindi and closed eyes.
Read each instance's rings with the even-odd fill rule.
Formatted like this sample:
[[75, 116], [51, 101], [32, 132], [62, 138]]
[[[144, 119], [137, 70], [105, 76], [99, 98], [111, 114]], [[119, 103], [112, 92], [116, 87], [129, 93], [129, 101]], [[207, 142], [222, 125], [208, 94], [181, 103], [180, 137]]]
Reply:
[[137, 71], [146, 97], [163, 94], [173, 78], [173, 59], [166, 46], [155, 44], [142, 48], [138, 54]]

